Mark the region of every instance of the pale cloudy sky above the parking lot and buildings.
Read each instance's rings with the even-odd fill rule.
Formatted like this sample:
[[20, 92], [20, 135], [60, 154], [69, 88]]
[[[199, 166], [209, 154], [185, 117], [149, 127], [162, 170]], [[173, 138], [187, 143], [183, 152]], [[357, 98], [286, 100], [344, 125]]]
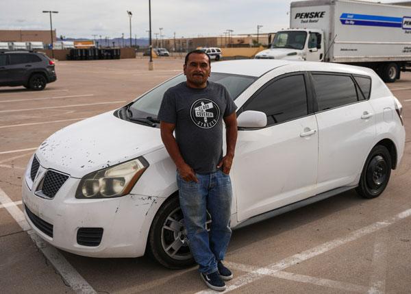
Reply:
[[[377, 0], [370, 0], [377, 2]], [[393, 0], [401, 2], [401, 0]], [[151, 0], [151, 27], [163, 38], [220, 36], [276, 32], [288, 27], [292, 0]], [[392, 1], [380, 0], [382, 3]], [[149, 29], [149, 0], [0, 0], [0, 29], [50, 29], [49, 14], [55, 10], [53, 29], [66, 38], [93, 38], [93, 34], [119, 38], [145, 38]]]

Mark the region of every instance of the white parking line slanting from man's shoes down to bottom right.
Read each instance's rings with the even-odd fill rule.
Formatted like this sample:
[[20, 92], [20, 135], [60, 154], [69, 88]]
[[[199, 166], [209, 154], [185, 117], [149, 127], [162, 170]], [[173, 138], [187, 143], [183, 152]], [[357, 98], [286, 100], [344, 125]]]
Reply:
[[[236, 262], [225, 262], [227, 266], [232, 267], [233, 269], [238, 269], [239, 271], [246, 271], [251, 273], [253, 271], [260, 271], [258, 267], [253, 267], [251, 265], [243, 265]], [[334, 288], [343, 291], [357, 292], [357, 293], [366, 293], [368, 288], [366, 286], [351, 284], [347, 282], [334, 281], [323, 278], [316, 278], [310, 275], [300, 275], [298, 273], [290, 273], [288, 271], [273, 271], [271, 269], [265, 269], [266, 273], [264, 275], [269, 275], [274, 278], [280, 278], [284, 280], [290, 280], [295, 282], [314, 284], [318, 286], [326, 286], [329, 288]]]

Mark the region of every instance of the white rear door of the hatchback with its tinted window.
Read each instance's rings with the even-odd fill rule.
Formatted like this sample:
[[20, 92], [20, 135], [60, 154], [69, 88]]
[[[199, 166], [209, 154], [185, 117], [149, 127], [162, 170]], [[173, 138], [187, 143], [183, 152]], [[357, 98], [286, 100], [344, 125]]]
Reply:
[[[375, 138], [371, 104], [351, 75], [312, 73], [319, 126], [316, 193], [355, 185]], [[371, 79], [370, 79], [371, 84]]]

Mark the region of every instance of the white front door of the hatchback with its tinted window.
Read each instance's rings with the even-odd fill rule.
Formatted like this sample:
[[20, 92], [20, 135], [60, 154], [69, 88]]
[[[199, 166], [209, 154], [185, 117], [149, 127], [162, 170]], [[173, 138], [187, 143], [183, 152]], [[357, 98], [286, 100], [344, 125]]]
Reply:
[[266, 127], [238, 131], [232, 175], [238, 221], [312, 196], [318, 134], [307, 78], [277, 77], [238, 111], [265, 112], [268, 121]]

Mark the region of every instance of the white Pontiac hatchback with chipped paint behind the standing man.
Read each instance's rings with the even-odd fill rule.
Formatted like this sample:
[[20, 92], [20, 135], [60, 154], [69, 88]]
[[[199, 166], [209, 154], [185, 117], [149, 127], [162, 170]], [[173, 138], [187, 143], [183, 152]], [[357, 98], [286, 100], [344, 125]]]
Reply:
[[[402, 106], [371, 70], [286, 60], [212, 66], [238, 106], [231, 225], [356, 188], [379, 196], [403, 156]], [[118, 110], [55, 132], [23, 180], [27, 221], [46, 241], [95, 257], [190, 265], [175, 165], [156, 116], [177, 75]], [[210, 224], [208, 221], [208, 225]]]

